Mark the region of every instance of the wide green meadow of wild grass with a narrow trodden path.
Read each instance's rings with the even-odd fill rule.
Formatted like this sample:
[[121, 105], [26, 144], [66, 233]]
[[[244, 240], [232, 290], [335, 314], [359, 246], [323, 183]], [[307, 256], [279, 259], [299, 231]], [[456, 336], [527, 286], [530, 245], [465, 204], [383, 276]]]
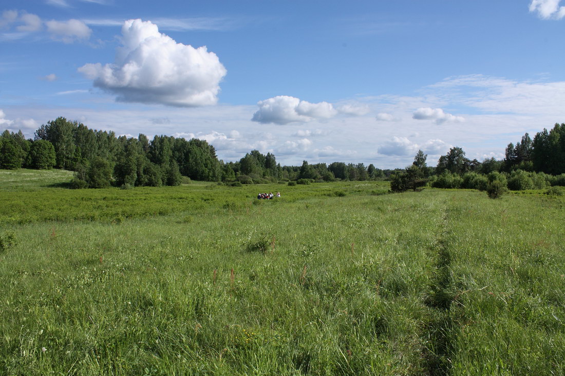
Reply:
[[33, 173], [0, 171], [0, 374], [565, 373], [563, 198]]

